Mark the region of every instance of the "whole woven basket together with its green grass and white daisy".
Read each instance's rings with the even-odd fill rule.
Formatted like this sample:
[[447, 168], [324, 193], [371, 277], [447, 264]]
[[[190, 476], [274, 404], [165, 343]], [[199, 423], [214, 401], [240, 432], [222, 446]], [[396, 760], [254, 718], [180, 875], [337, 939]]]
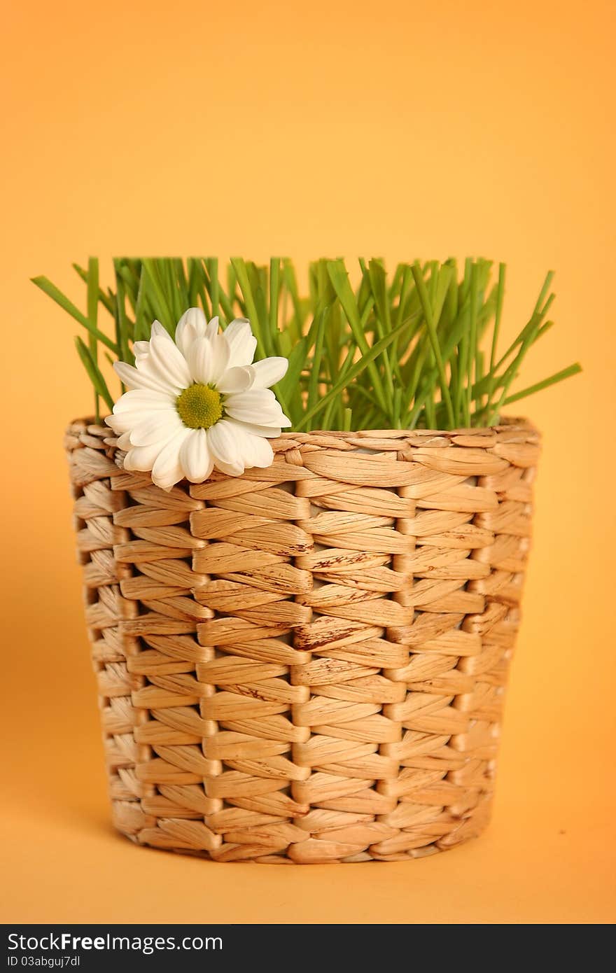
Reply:
[[539, 440], [503, 413], [580, 370], [519, 383], [553, 274], [503, 347], [486, 260], [75, 270], [85, 311], [35, 283], [94, 390], [66, 448], [118, 828], [297, 863], [477, 835]]

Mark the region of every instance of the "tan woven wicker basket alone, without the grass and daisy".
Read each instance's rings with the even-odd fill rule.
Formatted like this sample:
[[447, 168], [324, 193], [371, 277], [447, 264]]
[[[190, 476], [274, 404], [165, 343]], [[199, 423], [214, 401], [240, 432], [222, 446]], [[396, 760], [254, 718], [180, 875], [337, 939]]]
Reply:
[[164, 492], [66, 448], [116, 827], [216, 861], [400, 861], [486, 825], [539, 437], [287, 433]]

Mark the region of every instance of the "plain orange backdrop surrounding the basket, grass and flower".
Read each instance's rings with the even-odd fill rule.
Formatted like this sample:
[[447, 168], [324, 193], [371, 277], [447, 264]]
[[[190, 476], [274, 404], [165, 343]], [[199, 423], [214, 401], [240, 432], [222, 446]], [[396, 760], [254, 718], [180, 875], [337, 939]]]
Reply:
[[[616, 919], [613, 4], [19, 0], [4, 14], [4, 921]], [[61, 450], [91, 409], [70, 262], [113, 254], [508, 262], [504, 329], [558, 271], [525, 384], [545, 448], [496, 810], [409, 863], [211, 865], [108, 824]], [[611, 295], [611, 296], [610, 296]], [[609, 307], [608, 307], [609, 305]]]

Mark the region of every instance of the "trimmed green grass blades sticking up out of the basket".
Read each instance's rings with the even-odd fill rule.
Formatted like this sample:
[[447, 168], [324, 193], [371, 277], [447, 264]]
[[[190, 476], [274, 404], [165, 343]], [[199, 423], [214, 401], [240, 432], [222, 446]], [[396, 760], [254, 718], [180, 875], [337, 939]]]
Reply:
[[[170, 335], [190, 306], [223, 327], [250, 319], [256, 358], [289, 359], [274, 391], [293, 429], [455, 429], [498, 422], [501, 410], [581, 371], [569, 365], [518, 389], [525, 356], [553, 326], [553, 272], [517, 338], [499, 348], [505, 266], [491, 262], [359, 261], [352, 283], [344, 260], [310, 264], [308, 296], [289, 260], [268, 267], [234, 258], [221, 272], [216, 258], [114, 260], [114, 285], [99, 283], [98, 261], [73, 265], [86, 284], [86, 312], [47, 277], [33, 282], [87, 332], [77, 351], [91, 378], [96, 416], [111, 410], [100, 357], [132, 363], [132, 342], [148, 340], [158, 319]], [[103, 319], [104, 323], [103, 323]]]

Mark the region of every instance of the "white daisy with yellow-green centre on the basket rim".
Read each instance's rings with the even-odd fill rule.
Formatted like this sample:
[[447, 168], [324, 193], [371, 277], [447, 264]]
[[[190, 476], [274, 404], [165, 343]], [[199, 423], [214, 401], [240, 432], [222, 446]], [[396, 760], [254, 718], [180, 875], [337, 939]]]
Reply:
[[149, 342], [134, 342], [135, 364], [114, 368], [129, 391], [105, 419], [127, 450], [127, 470], [152, 471], [169, 490], [184, 477], [207, 480], [212, 469], [240, 476], [269, 466], [269, 438], [291, 422], [270, 389], [284, 376], [286, 358], [255, 362], [250, 322], [237, 318], [219, 333], [199, 307], [180, 318], [175, 341], [160, 321]]

